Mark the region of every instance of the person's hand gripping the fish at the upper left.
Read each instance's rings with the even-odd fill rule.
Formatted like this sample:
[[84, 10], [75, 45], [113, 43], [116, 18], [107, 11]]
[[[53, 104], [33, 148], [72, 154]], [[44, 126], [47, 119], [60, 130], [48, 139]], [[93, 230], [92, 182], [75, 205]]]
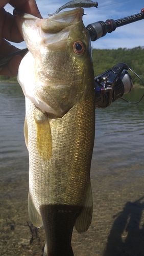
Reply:
[[[14, 16], [4, 9], [5, 5], [8, 3], [12, 7], [21, 10], [23, 13], [30, 13], [41, 18], [35, 0], [0, 0], [0, 56], [19, 50], [12, 46], [7, 40], [12, 42], [23, 41]], [[7, 66], [0, 69], [0, 75], [16, 76], [21, 58], [20, 55], [14, 56]]]

